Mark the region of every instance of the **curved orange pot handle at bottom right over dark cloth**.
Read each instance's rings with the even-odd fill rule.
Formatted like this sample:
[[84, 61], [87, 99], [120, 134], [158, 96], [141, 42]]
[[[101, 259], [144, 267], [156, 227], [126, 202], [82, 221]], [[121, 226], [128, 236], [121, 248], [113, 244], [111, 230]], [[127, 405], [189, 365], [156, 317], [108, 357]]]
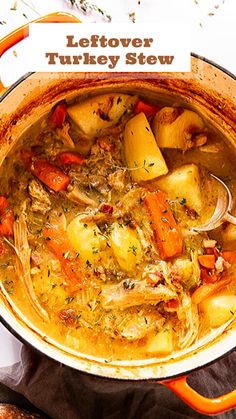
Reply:
[[189, 386], [187, 377], [185, 375], [170, 381], [160, 381], [158, 383], [172, 390], [192, 409], [209, 416], [218, 415], [236, 408], [236, 390], [216, 398], [207, 398]]

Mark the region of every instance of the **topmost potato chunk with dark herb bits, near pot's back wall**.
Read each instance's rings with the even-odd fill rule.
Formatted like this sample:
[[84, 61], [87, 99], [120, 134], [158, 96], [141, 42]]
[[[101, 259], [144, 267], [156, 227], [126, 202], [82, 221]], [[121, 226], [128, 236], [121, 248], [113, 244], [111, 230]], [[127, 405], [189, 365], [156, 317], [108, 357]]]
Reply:
[[136, 101], [136, 96], [107, 93], [69, 106], [67, 113], [82, 134], [91, 139], [105, 128], [116, 125]]

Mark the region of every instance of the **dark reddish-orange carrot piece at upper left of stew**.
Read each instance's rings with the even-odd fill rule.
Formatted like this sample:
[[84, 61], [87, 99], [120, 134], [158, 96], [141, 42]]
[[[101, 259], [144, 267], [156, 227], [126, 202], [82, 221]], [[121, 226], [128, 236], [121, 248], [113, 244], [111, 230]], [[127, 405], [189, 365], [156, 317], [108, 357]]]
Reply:
[[69, 176], [59, 167], [38, 157], [32, 150], [22, 150], [21, 158], [26, 168], [53, 191], [64, 191], [70, 184]]

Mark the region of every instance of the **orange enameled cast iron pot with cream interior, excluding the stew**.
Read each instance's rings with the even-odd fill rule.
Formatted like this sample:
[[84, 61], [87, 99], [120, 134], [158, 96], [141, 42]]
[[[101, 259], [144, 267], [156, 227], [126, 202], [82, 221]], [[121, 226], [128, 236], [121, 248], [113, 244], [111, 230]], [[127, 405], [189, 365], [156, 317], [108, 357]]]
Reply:
[[[77, 19], [56, 13], [40, 22], [73, 22]], [[24, 26], [0, 42], [0, 57], [28, 35]], [[0, 86], [1, 90], [1, 86]], [[191, 73], [30, 73], [15, 83], [0, 98], [0, 164], [19, 136], [61, 99], [101, 94], [107, 91], [136, 92], [151, 99], [165, 97], [195, 109], [236, 148], [236, 81], [212, 63], [192, 56]], [[236, 390], [215, 399], [196, 393], [187, 383], [187, 374], [215, 361], [235, 348], [236, 320], [221, 328], [200, 345], [182, 351], [174, 358], [107, 363], [62, 347], [32, 323], [0, 290], [0, 316], [18, 338], [43, 354], [69, 367], [97, 376], [115, 379], [151, 379], [169, 387], [192, 408], [205, 414], [218, 414], [236, 407]]]

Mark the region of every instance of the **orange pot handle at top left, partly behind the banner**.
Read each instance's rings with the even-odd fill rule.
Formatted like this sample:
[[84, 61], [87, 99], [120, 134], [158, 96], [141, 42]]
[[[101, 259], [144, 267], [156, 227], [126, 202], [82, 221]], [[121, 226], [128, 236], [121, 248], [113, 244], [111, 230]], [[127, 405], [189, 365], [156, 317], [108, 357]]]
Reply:
[[[33, 23], [78, 23], [80, 20], [76, 17], [71, 15], [70, 13], [66, 12], [56, 12], [51, 13], [46, 16], [39, 17], [38, 19], [33, 20]], [[30, 22], [32, 23], [32, 22]], [[10, 34], [6, 35], [4, 38], [0, 40], [0, 58], [7, 51], [9, 48], [13, 47], [18, 42], [22, 41], [22, 39], [29, 36], [29, 23], [21, 26], [20, 28], [15, 29]], [[4, 93], [6, 89], [4, 88], [3, 84], [0, 80], [0, 95]]]

